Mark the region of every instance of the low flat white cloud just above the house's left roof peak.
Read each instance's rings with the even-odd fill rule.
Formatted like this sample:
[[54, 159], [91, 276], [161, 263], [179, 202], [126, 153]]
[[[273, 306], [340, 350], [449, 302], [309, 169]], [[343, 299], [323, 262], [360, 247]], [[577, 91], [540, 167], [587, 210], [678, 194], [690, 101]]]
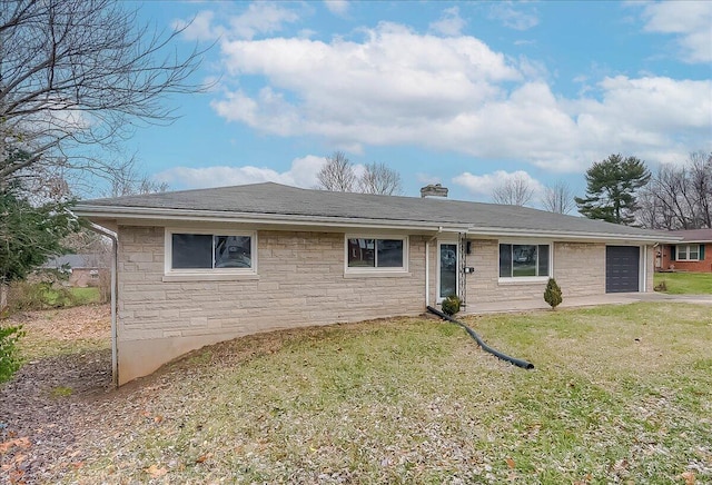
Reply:
[[174, 187], [207, 188], [260, 184], [273, 181], [294, 187], [312, 188], [317, 184], [316, 175], [326, 159], [308, 155], [291, 161], [289, 170], [279, 172], [266, 167], [215, 166], [204, 168], [175, 167], [156, 174], [154, 178]]

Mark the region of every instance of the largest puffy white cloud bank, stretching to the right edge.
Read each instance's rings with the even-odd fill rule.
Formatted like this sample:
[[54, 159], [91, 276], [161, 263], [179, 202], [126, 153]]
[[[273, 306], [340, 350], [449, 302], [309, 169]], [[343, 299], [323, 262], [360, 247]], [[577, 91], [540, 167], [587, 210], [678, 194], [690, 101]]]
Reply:
[[582, 93], [565, 98], [552, 91], [540, 62], [507, 58], [474, 37], [395, 23], [365, 30], [360, 40], [220, 47], [227, 81], [240, 86], [212, 101], [220, 117], [347, 151], [415, 145], [583, 171], [612, 152], [656, 161], [712, 149], [710, 80], [589, 79]]

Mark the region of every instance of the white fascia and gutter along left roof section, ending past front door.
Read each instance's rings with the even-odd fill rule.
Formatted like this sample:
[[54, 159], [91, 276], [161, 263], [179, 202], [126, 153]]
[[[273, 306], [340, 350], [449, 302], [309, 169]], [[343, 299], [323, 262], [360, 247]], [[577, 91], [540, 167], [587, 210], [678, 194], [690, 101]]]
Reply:
[[102, 219], [131, 219], [161, 222], [180, 220], [187, 222], [237, 222], [237, 224], [270, 224], [279, 226], [323, 226], [375, 229], [404, 229], [417, 231], [466, 232], [461, 225], [446, 222], [421, 222], [417, 220], [367, 219], [354, 217], [299, 216], [284, 214], [227, 212], [192, 209], [160, 209], [145, 207], [111, 207], [111, 206], [80, 206], [75, 214], [81, 217]]

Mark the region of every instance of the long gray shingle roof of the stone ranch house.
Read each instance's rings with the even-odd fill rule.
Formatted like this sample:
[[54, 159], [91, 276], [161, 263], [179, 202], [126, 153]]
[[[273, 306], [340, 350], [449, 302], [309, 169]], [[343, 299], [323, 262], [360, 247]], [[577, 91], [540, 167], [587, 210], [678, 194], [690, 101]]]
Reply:
[[663, 232], [653, 232], [614, 224], [590, 220], [583, 217], [564, 216], [527, 207], [462, 200], [437, 200], [415, 197], [377, 196], [365, 194], [330, 192], [300, 189], [273, 182], [235, 187], [182, 190], [174, 192], [128, 196], [82, 201], [78, 214], [98, 217], [157, 209], [168, 211], [210, 211], [229, 215], [254, 216], [306, 216], [333, 218], [335, 220], [362, 219], [413, 222], [414, 225], [462, 225], [472, 231], [483, 228], [531, 231], [532, 236], [543, 232], [595, 234], [630, 236], [661, 240], [671, 239]]

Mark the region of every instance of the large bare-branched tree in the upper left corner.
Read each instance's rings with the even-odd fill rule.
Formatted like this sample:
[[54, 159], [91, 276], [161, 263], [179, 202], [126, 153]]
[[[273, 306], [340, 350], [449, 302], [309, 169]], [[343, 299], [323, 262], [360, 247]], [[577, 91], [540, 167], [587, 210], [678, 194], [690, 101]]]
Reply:
[[41, 167], [113, 174], [105, 149], [174, 120], [166, 95], [200, 89], [188, 82], [200, 52], [169, 50], [179, 33], [116, 0], [0, 0], [0, 188]]

